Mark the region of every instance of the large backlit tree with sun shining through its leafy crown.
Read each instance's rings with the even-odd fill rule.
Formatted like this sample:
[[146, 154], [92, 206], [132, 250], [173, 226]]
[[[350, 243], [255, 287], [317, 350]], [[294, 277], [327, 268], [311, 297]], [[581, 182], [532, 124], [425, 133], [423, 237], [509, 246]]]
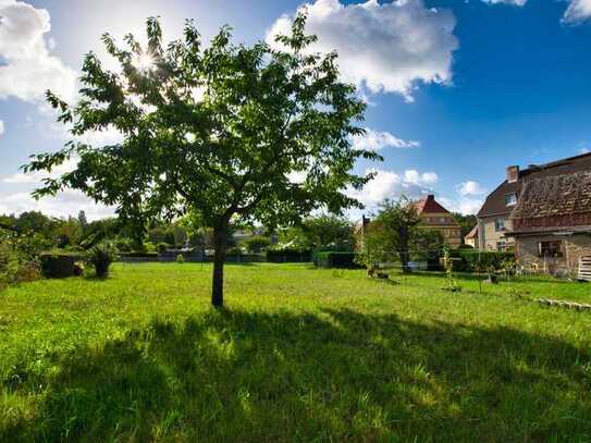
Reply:
[[[229, 27], [204, 49], [190, 21], [183, 38], [165, 48], [156, 19], [147, 21], [146, 48], [128, 35], [122, 49], [106, 34], [121, 73], [90, 52], [77, 104], [51, 93], [47, 99], [73, 135], [114, 127], [123, 140], [102, 147], [70, 141], [35, 156], [25, 171], [78, 160], [35, 196], [79, 189], [138, 227], [197, 213], [213, 230], [212, 304], [222, 306], [231, 221], [274, 226], [315, 209], [360, 207], [345, 189], [361, 188], [372, 175], [350, 171], [360, 157], [380, 159], [353, 147], [350, 137], [364, 133], [357, 122], [366, 106], [354, 85], [340, 81], [335, 52], [309, 53], [317, 38], [305, 34], [305, 22], [298, 15], [292, 34], [278, 37], [283, 49], [234, 45]], [[304, 174], [304, 182], [290, 181], [293, 173]]]

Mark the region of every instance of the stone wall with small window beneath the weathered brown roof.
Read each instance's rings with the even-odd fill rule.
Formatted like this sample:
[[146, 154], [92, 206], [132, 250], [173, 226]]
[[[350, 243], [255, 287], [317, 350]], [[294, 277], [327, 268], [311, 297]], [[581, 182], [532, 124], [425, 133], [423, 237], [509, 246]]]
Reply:
[[[562, 257], [540, 257], [540, 242], [557, 241], [562, 242]], [[579, 258], [581, 256], [591, 256], [591, 235], [539, 235], [520, 237], [516, 241], [516, 254], [520, 264], [528, 269], [537, 267], [542, 272], [576, 276], [579, 270]]]

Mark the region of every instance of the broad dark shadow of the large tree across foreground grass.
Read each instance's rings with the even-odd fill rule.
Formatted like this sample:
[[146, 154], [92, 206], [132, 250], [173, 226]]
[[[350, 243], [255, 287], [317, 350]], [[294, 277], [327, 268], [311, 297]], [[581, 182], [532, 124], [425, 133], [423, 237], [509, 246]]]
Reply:
[[57, 358], [12, 391], [47, 386], [1, 441], [591, 435], [589, 350], [509, 329], [221, 310]]

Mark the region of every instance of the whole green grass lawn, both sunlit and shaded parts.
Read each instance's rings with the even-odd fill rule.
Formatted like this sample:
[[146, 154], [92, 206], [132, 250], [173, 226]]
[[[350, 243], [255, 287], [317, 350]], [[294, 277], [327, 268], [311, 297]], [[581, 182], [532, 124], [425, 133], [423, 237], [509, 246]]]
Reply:
[[[116, 264], [0, 293], [0, 441], [590, 441], [591, 285]], [[404, 283], [404, 284], [403, 284]]]

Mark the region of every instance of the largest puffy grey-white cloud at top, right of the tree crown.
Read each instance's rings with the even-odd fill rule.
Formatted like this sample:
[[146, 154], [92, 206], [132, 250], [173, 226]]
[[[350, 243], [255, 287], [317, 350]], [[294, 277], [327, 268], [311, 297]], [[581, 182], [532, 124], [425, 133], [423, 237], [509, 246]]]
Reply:
[[[418, 82], [452, 81], [453, 51], [458, 40], [450, 10], [428, 9], [422, 0], [377, 0], [344, 5], [338, 0], [317, 0], [308, 10], [307, 33], [318, 36], [311, 49], [336, 50], [343, 76], [372, 93], [397, 93], [413, 100]], [[290, 34], [293, 15], [282, 15], [267, 33]]]

